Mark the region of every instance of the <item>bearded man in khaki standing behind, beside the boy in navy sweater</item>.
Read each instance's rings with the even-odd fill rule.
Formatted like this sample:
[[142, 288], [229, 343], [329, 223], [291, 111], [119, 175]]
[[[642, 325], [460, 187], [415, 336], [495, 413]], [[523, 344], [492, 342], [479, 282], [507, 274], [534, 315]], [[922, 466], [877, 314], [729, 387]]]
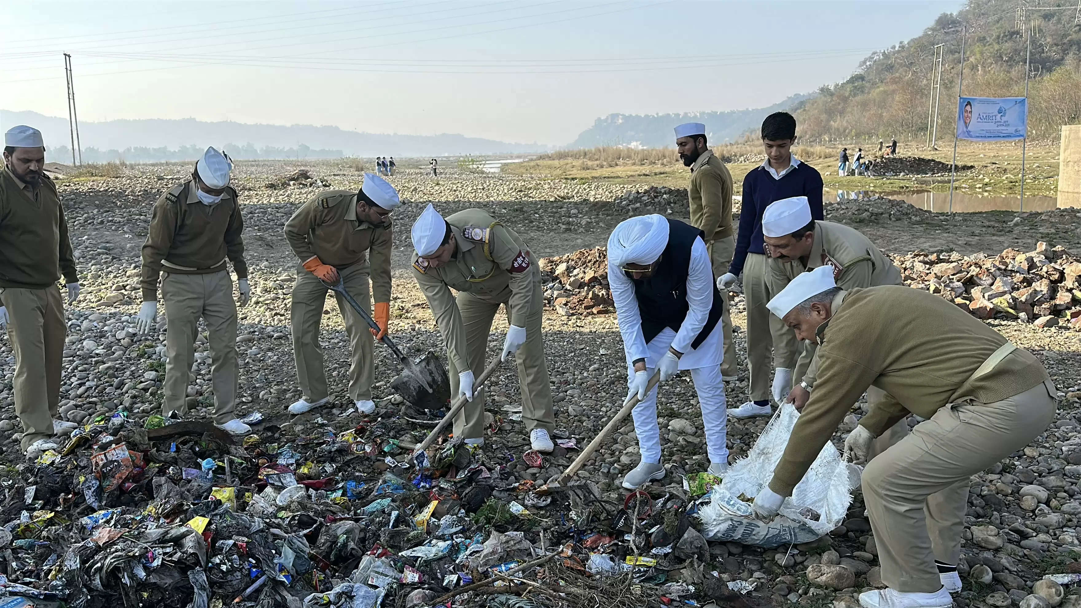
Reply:
[[[688, 122], [676, 128], [676, 150], [683, 164], [691, 168], [688, 198], [691, 203], [691, 225], [706, 234], [706, 250], [713, 266], [713, 277], [729, 272], [736, 239], [732, 232], [732, 174], [713, 150], [706, 147], [706, 125]], [[724, 380], [736, 380], [736, 345], [732, 340], [732, 316], [729, 314], [729, 290], [722, 289], [724, 315], [721, 329], [724, 336]]]

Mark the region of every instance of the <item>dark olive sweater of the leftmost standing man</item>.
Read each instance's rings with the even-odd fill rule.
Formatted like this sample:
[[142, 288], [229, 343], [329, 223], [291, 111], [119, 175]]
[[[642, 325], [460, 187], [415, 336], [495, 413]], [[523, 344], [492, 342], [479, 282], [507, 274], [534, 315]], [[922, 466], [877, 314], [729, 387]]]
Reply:
[[38, 187], [0, 169], [0, 287], [45, 289], [64, 275], [79, 282], [56, 184], [45, 174]]

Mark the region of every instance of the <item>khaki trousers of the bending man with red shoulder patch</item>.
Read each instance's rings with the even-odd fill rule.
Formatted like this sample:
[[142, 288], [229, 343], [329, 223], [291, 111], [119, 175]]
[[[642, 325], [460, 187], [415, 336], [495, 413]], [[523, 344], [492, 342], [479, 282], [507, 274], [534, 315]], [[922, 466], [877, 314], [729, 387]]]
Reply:
[[[522, 422], [525, 423], [525, 429], [544, 428], [551, 433], [556, 428], [556, 415], [552, 413], [551, 384], [548, 380], [548, 365], [544, 358], [544, 341], [540, 333], [543, 303], [540, 283], [534, 282], [530, 313], [525, 318], [525, 343], [513, 357], [518, 365], [518, 386], [522, 392]], [[484, 360], [488, 335], [492, 331], [492, 320], [499, 309], [499, 304], [478, 298], [468, 291], [459, 291], [457, 295], [458, 312], [462, 314], [462, 325], [466, 330], [469, 368], [473, 372], [475, 380], [480, 378], [488, 366]], [[509, 310], [507, 320], [510, 320]], [[465, 370], [457, 369], [450, 357], [448, 360], [451, 368], [451, 395], [454, 396], [458, 394], [458, 373]], [[483, 434], [484, 389], [481, 388], [473, 393], [473, 400], [466, 402], [466, 407], [458, 410], [454, 417], [454, 436], [473, 439], [482, 437]]]

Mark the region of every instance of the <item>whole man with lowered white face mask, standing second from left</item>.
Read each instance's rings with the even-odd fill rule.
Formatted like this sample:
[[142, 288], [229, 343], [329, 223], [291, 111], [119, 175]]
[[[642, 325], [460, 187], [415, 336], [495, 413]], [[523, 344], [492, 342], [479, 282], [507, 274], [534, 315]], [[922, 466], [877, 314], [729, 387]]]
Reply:
[[143, 244], [143, 306], [136, 327], [155, 328], [158, 278], [165, 301], [164, 402], [162, 414], [188, 413], [187, 391], [199, 318], [206, 323], [214, 361], [214, 424], [233, 435], [251, 433], [237, 420], [237, 303], [226, 260], [237, 273], [240, 305], [251, 299], [237, 190], [229, 186], [232, 161], [213, 147], [196, 163], [191, 179], [173, 186], [154, 206]]

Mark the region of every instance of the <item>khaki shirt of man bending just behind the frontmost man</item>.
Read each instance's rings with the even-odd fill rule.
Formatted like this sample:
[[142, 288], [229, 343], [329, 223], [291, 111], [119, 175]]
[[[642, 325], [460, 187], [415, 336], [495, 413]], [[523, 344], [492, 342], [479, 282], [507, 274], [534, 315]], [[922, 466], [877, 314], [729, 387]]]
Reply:
[[[845, 291], [881, 285], [905, 285], [900, 270], [869, 238], [855, 228], [836, 222], [815, 222], [814, 243], [805, 260], [801, 257], [782, 262], [770, 257], [766, 264], [778, 285], [788, 285], [800, 273], [827, 265], [833, 267], [837, 287]], [[818, 378], [818, 362], [814, 354], [814, 345], [806, 345], [796, 365], [796, 376], [800, 378], [802, 373], [803, 382], [810, 386], [814, 386]]]

